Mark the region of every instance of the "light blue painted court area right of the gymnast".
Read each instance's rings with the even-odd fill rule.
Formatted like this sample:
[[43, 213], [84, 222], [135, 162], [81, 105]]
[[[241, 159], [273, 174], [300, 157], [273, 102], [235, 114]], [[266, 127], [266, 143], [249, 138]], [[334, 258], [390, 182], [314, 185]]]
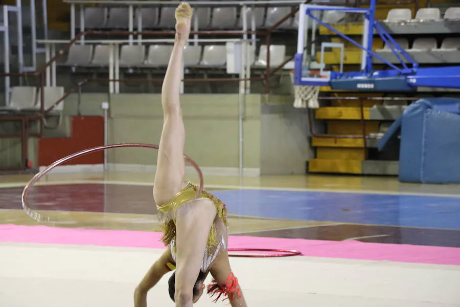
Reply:
[[460, 198], [338, 192], [214, 191], [232, 214], [289, 220], [460, 229]]

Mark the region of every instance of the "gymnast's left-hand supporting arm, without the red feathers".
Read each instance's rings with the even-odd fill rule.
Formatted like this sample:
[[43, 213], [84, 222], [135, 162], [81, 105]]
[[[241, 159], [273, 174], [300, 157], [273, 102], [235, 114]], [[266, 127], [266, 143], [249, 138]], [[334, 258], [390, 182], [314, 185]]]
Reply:
[[145, 274], [139, 286], [134, 291], [134, 307], [147, 307], [147, 292], [171, 270], [167, 268], [168, 263], [173, 263], [171, 250], [168, 248], [162, 256], [155, 261], [150, 270]]

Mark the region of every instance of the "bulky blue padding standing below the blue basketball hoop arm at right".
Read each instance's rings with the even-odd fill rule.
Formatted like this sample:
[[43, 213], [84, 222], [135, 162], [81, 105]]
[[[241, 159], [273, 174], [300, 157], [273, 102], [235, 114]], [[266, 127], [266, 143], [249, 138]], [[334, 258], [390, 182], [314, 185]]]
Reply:
[[460, 183], [460, 99], [412, 103], [379, 140], [379, 149], [399, 131], [400, 181]]

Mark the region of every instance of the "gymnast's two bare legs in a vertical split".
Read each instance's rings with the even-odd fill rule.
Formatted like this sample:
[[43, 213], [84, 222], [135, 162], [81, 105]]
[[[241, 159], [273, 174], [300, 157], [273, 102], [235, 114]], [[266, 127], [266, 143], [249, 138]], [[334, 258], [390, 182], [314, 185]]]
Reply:
[[[188, 41], [192, 8], [187, 3], [176, 9], [176, 36], [162, 87], [164, 124], [158, 149], [153, 197], [157, 205], [173, 198], [185, 187], [185, 127], [179, 102], [183, 48]], [[193, 305], [193, 286], [201, 268], [209, 231], [217, 209], [209, 199], [190, 201], [172, 213], [176, 224], [176, 306]]]

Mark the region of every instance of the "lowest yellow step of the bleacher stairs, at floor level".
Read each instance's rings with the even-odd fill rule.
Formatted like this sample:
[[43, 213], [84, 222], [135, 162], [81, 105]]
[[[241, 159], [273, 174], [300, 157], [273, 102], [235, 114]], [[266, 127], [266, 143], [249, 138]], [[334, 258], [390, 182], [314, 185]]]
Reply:
[[362, 162], [360, 160], [312, 159], [308, 161], [308, 171], [360, 174], [362, 173]]

